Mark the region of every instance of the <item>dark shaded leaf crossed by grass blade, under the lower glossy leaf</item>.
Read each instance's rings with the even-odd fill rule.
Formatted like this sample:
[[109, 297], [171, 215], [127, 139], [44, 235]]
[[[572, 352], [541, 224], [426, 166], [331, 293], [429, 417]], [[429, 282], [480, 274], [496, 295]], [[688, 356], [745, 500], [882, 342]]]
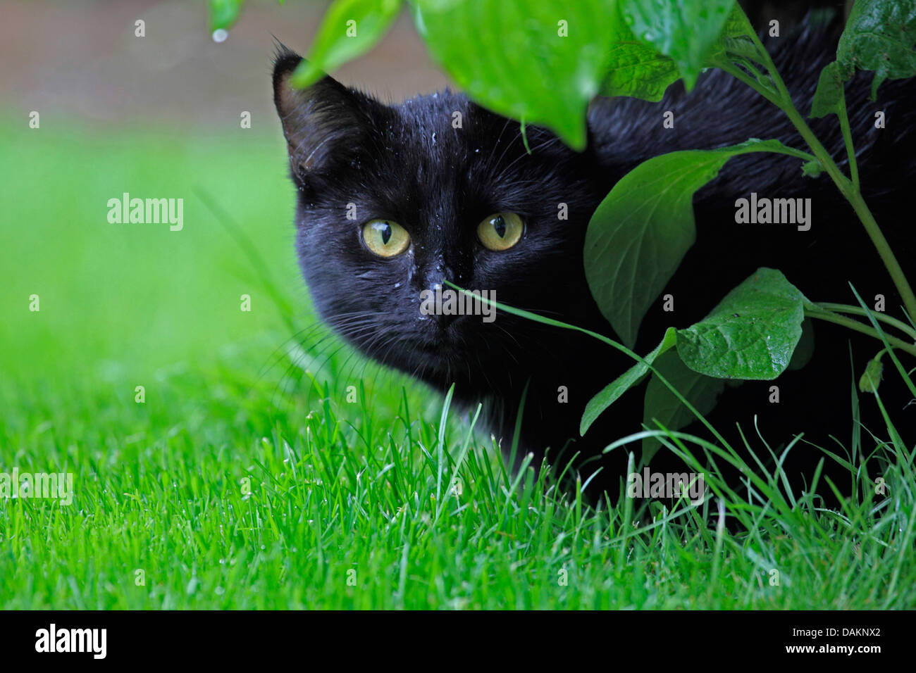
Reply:
[[[693, 407], [701, 414], [708, 414], [715, 407], [719, 396], [725, 390], [725, 381], [698, 374], [683, 364], [677, 353], [665, 353], [655, 364], [656, 371], [668, 379]], [[659, 377], [652, 374], [646, 388], [646, 398], [643, 401], [642, 422], [653, 428], [652, 418], [656, 418], [663, 426], [670, 430], [679, 430], [690, 424], [695, 418], [692, 411], [684, 404], [667, 385], [661, 383]], [[643, 461], [651, 460], [655, 452], [661, 448], [661, 441], [655, 437], [642, 440]]]

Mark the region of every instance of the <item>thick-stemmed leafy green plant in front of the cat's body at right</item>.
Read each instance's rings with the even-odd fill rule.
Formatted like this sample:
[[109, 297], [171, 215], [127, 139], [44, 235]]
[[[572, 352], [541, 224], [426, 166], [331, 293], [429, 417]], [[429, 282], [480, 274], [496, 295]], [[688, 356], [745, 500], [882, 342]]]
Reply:
[[[839, 118], [850, 166], [848, 178], [795, 108], [780, 73], [756, 34], [748, 30], [746, 22], [737, 15], [743, 16], [743, 13], [736, 6], [734, 20], [724, 28], [721, 47], [710, 53], [707, 64], [731, 73], [779, 107], [799, 130], [812, 154], [791, 150], [776, 141], [752, 140], [730, 148], [675, 152], [654, 157], [634, 168], [617, 182], [589, 225], [584, 259], [594, 299], [623, 341], [632, 345], [636, 341], [639, 321], [649, 305], [658, 298], [661, 288], [671, 278], [693, 242], [693, 192], [714, 179], [730, 156], [747, 151], [771, 151], [799, 157], [805, 162], [802, 168], [808, 175], [821, 171], [830, 175], [878, 249], [900, 291], [906, 312], [910, 317], [916, 316], [916, 298], [909, 282], [859, 189], [856, 153], [844, 91], [845, 81], [856, 70], [876, 71], [873, 95], [885, 79], [916, 75], [916, 57], [912, 50], [916, 42], [916, 3], [859, 0], [841, 38], [837, 60], [824, 68], [821, 74], [812, 100], [811, 116], [836, 114]], [[760, 66], [763, 71], [758, 70]], [[687, 81], [686, 76], [684, 79]], [[659, 176], [664, 177], [658, 179]], [[630, 244], [620, 244], [621, 241]], [[688, 330], [678, 331], [677, 353], [694, 372], [718, 378], [774, 378], [791, 360], [801, 337], [804, 315], [845, 324], [853, 330], [882, 338], [875, 329], [868, 329], [863, 323], [842, 315], [859, 313], [856, 307], [814, 304], [803, 298], [781, 274], [761, 271], [767, 273], [758, 280], [756, 293], [733, 291], [709, 317]], [[747, 282], [741, 288], [745, 286]], [[793, 291], [786, 292], [786, 286]], [[781, 309], [767, 312], [769, 320], [764, 324], [759, 321], [761, 311], [765, 311], [773, 299], [786, 303]], [[722, 317], [725, 320], [721, 320]], [[887, 320], [887, 317], [878, 319]], [[911, 340], [916, 337], [911, 325], [899, 320], [894, 320], [893, 324]], [[758, 350], [748, 350], [750, 344], [746, 339], [754, 333], [770, 338], [772, 348], [768, 342], [768, 347], [761, 350], [761, 343], [757, 340]], [[916, 354], [912, 342], [897, 339], [893, 347]], [[870, 364], [869, 373], [874, 372], [876, 367], [876, 364]], [[901, 374], [911, 385], [907, 374]], [[869, 377], [867, 383], [863, 382], [862, 389], [874, 392], [878, 381], [877, 375]], [[657, 390], [652, 396], [647, 395], [647, 419], [651, 416], [651, 407], [655, 407], [653, 411], [660, 412], [662, 409], [657, 396]], [[704, 391], [703, 401], [708, 401], [709, 396], [709, 392]], [[599, 394], [590, 403], [592, 416], [595, 405], [601, 400]], [[697, 396], [693, 401], [700, 400]], [[673, 429], [690, 420], [678, 418], [676, 411], [670, 411], [668, 416], [671, 418], [669, 428]]]

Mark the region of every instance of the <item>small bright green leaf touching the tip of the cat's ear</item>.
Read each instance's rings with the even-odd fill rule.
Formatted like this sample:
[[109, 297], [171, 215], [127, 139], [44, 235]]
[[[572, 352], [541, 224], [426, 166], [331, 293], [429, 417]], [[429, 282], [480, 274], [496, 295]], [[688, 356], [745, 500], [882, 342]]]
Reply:
[[400, 0], [334, 0], [322, 18], [309, 55], [293, 73], [297, 89], [376, 46], [398, 16]]

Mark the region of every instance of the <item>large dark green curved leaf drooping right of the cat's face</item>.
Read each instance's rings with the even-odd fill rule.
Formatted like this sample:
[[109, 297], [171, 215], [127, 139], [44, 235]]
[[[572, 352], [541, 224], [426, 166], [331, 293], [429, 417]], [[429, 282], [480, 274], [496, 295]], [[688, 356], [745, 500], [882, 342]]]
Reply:
[[731, 157], [761, 151], [798, 156], [779, 140], [751, 139], [652, 157], [620, 179], [595, 210], [585, 234], [585, 277], [627, 346], [696, 239], [693, 193]]

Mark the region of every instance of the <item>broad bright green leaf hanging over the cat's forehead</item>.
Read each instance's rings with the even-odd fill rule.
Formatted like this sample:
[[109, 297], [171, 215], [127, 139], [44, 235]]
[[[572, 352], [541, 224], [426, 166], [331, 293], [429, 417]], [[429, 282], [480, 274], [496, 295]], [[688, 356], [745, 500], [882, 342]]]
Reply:
[[[432, 54], [474, 100], [585, 147], [605, 77], [616, 0], [416, 0]], [[565, 37], [562, 37], [565, 35]]]

